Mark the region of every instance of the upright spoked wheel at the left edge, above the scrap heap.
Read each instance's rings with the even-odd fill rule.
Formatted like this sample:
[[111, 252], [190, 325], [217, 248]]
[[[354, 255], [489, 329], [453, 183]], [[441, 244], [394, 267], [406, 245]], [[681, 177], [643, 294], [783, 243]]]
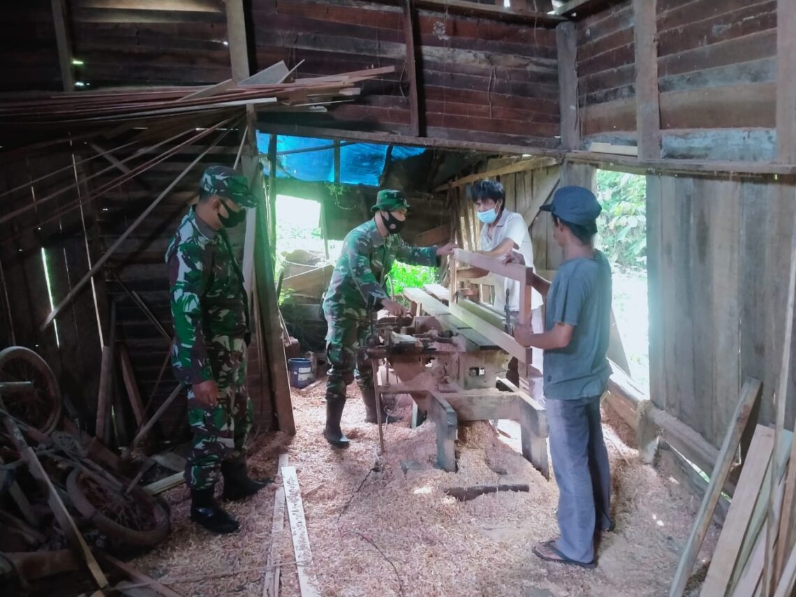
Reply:
[[53, 370], [33, 350], [10, 346], [0, 351], [0, 383], [28, 381], [29, 388], [0, 389], [0, 407], [43, 433], [60, 419], [60, 390]]

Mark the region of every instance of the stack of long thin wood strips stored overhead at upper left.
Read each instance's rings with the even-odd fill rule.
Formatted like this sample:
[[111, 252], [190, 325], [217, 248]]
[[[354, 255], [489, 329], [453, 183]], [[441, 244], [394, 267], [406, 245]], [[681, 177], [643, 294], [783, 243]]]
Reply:
[[358, 82], [393, 72], [371, 68], [335, 76], [288, 81], [295, 75], [283, 62], [239, 84], [232, 80], [210, 87], [120, 89], [77, 93], [31, 93], [0, 102], [0, 127], [51, 127], [173, 118], [209, 111], [239, 111], [246, 105], [278, 111], [326, 111], [326, 106], [351, 101]]

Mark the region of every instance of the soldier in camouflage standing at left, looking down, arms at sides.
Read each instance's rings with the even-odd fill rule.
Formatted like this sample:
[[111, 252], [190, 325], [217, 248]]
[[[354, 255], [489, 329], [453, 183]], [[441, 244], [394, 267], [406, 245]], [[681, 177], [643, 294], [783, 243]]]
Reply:
[[199, 202], [182, 219], [166, 251], [174, 317], [174, 375], [188, 388], [193, 447], [185, 470], [191, 520], [214, 533], [239, 527], [213, 497], [219, 473], [224, 499], [237, 500], [265, 486], [248, 478], [244, 454], [252, 427], [246, 388], [249, 332], [243, 275], [224, 228], [240, 224], [256, 197], [246, 178], [210, 166]]

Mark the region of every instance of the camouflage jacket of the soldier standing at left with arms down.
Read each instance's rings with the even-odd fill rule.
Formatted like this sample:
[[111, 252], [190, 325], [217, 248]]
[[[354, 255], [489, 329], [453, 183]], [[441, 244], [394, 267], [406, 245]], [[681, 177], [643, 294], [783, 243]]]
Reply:
[[[174, 375], [185, 384], [212, 380], [214, 357], [228, 341], [247, 338], [248, 298], [227, 232], [213, 230], [193, 209], [166, 250], [174, 318]], [[217, 368], [217, 367], [216, 367]]]

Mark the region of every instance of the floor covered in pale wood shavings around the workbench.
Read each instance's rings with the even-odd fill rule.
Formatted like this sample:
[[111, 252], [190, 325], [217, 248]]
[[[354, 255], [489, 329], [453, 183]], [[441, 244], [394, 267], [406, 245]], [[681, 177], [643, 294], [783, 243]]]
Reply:
[[[638, 461], [624, 423], [610, 419], [604, 426], [617, 528], [599, 544], [598, 568], [583, 570], [533, 556], [534, 544], [556, 537], [556, 484], [488, 423], [462, 427], [459, 470], [445, 473], [435, 468], [433, 423], [409, 427], [408, 396], [396, 408], [404, 419], [386, 428], [387, 451], [379, 459], [377, 427], [364, 423], [355, 386], [343, 416], [352, 445], [330, 449], [320, 435], [323, 392], [322, 385], [306, 396], [295, 392], [295, 438], [258, 436], [250, 458], [263, 476], [275, 474], [284, 451], [296, 466], [323, 595], [668, 594], [700, 500], [668, 472]], [[496, 482], [527, 483], [530, 490], [465, 502], [444, 494]], [[188, 490], [171, 490], [169, 540], [131, 564], [182, 595], [263, 595], [275, 487], [229, 506], [241, 530], [227, 537], [190, 523]], [[708, 533], [702, 556], [712, 552], [717, 532]], [[283, 562], [279, 594], [300, 595], [287, 518], [274, 540]]]

